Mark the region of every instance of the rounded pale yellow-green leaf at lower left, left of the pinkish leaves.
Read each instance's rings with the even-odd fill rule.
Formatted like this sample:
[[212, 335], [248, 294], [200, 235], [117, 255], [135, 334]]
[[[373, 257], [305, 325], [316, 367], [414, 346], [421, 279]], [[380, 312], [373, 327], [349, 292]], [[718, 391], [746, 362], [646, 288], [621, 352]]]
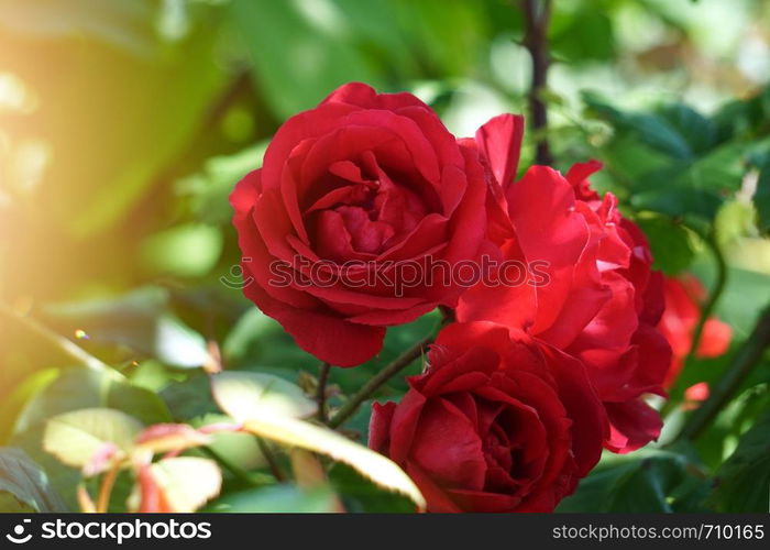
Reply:
[[142, 428], [139, 420], [120, 410], [75, 410], [47, 421], [43, 449], [67, 465], [82, 469], [108, 443], [130, 454]]

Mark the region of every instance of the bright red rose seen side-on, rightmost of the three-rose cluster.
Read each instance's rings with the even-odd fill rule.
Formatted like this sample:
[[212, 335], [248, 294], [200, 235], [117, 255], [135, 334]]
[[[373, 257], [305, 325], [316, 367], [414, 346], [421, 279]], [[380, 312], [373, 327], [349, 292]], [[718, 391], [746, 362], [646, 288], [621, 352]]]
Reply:
[[488, 234], [505, 258], [546, 263], [549, 279], [477, 285], [462, 296], [458, 320], [526, 330], [580, 359], [609, 417], [606, 447], [638, 449], [660, 433], [660, 417], [642, 396], [666, 395], [671, 361], [656, 329], [664, 307], [662, 275], [651, 270], [647, 239], [620, 215], [615, 196], [591, 188], [587, 177], [600, 163], [578, 164], [566, 176], [534, 166], [514, 182], [521, 127], [520, 118], [501, 116], [475, 138], [493, 175]]

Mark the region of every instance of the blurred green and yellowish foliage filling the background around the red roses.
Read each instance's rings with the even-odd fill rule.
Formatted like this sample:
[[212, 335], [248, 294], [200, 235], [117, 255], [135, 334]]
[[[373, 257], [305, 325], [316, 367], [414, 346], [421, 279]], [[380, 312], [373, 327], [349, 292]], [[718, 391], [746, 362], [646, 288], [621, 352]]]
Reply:
[[[719, 383], [768, 300], [770, 87], [761, 55], [746, 54], [749, 37], [767, 43], [765, 3], [552, 2], [540, 96], [559, 167], [603, 161], [592, 182], [617, 195], [667, 275], [716, 288], [712, 241], [728, 264], [714, 314], [730, 350], [688, 360], [662, 446], [690, 414], [685, 389]], [[228, 199], [277, 125], [345, 81], [414, 91], [459, 136], [524, 112], [521, 13], [504, 0], [178, 4], [0, 0], [0, 441], [12, 446], [0, 449], [0, 510], [78, 509], [96, 449], [133, 452], [140, 428], [173, 421], [207, 441], [155, 459], [177, 509], [200, 508], [222, 482], [206, 509], [411, 512], [398, 491], [418, 504], [419, 493], [392, 463], [372, 474], [383, 462], [363, 444], [372, 403], [399, 400], [422, 358], [340, 432], [314, 424], [318, 361], [243, 298]], [[331, 413], [439, 317], [389, 329], [366, 364], [332, 369]], [[561, 509], [767, 512], [769, 383], [766, 353], [697, 441], [607, 454]], [[251, 426], [257, 438], [233, 417], [278, 420]], [[312, 487], [276, 475], [292, 447], [322, 455]], [[110, 509], [139, 497], [121, 471]]]

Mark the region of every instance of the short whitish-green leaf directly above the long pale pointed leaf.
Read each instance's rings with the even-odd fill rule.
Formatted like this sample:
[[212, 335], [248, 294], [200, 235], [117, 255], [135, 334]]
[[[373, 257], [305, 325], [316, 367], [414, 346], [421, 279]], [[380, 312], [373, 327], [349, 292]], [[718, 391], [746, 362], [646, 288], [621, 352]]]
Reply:
[[211, 377], [213, 397], [237, 421], [263, 416], [306, 417], [316, 403], [299, 386], [272, 374], [223, 372]]

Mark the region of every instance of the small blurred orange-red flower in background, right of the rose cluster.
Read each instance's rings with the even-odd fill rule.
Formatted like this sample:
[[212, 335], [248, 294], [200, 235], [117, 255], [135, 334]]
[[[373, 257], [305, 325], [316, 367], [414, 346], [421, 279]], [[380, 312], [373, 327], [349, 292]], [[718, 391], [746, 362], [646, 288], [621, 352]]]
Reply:
[[[673, 356], [666, 376], [666, 387], [676, 382], [684, 359], [690, 353], [695, 326], [701, 318], [701, 302], [706, 298], [706, 289], [692, 275], [681, 278], [666, 278], [666, 311], [660, 319], [660, 330], [671, 344]], [[725, 353], [730, 345], [733, 329], [716, 317], [706, 319], [701, 333], [701, 341], [695, 350], [698, 358], [717, 358]], [[704, 386], [700, 386], [701, 389]], [[703, 391], [700, 392], [703, 395]]]

